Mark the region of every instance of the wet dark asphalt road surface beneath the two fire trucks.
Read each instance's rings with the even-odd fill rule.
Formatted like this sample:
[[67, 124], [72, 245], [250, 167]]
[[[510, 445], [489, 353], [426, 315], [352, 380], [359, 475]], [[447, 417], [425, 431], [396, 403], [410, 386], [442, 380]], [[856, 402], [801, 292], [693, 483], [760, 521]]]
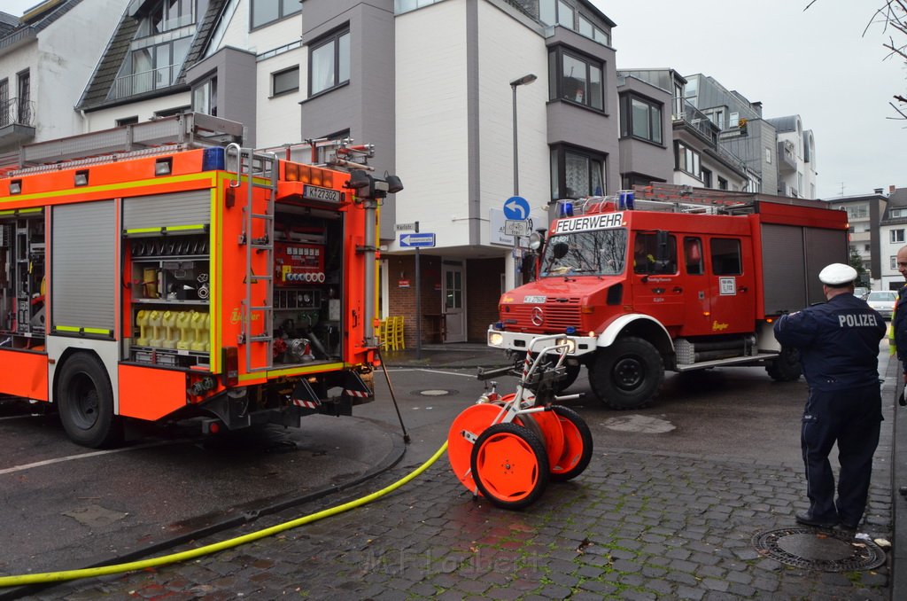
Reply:
[[[76, 447], [54, 416], [0, 403], [0, 572], [86, 567], [141, 552], [363, 478], [400, 453], [397, 471], [415, 467], [484, 387], [474, 369], [391, 369], [390, 377], [411, 440], [405, 450], [381, 374], [377, 400], [357, 408], [353, 419], [315, 416], [303, 429], [217, 439], [153, 430], [117, 452]], [[498, 390], [515, 384], [503, 377]], [[801, 469], [802, 380], [775, 383], [753, 368], [674, 374], [649, 408], [620, 412], [600, 406], [585, 374], [569, 392], [586, 395], [564, 404], [589, 424], [598, 460], [625, 450], [661, 451]]]

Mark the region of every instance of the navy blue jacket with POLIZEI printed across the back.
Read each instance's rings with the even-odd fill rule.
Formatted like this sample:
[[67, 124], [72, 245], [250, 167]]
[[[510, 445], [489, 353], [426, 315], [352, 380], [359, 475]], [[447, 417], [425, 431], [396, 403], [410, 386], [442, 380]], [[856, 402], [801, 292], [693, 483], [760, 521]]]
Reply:
[[878, 386], [885, 330], [882, 315], [849, 293], [775, 321], [778, 342], [800, 350], [810, 388], [826, 391]]

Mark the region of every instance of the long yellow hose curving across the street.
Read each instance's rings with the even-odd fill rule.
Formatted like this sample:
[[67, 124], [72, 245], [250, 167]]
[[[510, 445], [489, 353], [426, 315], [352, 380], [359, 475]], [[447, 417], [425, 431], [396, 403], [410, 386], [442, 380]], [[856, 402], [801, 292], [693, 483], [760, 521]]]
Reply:
[[336, 507], [328, 507], [327, 509], [323, 509], [321, 511], [318, 511], [317, 513], [309, 514], [303, 517], [297, 517], [296, 519], [278, 524], [277, 526], [263, 528], [256, 532], [250, 532], [249, 534], [243, 535], [241, 537], [229, 538], [228, 540], [224, 540], [219, 543], [213, 543], [204, 547], [190, 549], [189, 551], [181, 551], [180, 553], [173, 553], [171, 555], [166, 555], [163, 557], [151, 557], [150, 559], [142, 559], [140, 561], [131, 561], [125, 564], [114, 564], [112, 566], [101, 567], [86, 567], [83, 569], [66, 570], [62, 572], [43, 572], [40, 574], [0, 576], [0, 587], [46, 584], [51, 582], [63, 582], [64, 580], [76, 580], [78, 578], [91, 578], [96, 576], [122, 574], [123, 572], [132, 572], [134, 570], [147, 569], [149, 567], [167, 566], [169, 564], [175, 564], [180, 561], [186, 561], [189, 559], [194, 559], [196, 557], [202, 557], [210, 555], [212, 553], [217, 553], [218, 551], [223, 551], [225, 549], [239, 547], [240, 545], [245, 545], [246, 543], [250, 543], [260, 538], [270, 537], [295, 527], [304, 526], [306, 524], [316, 522], [317, 520], [323, 519], [325, 517], [336, 516], [337, 514], [341, 514], [356, 507], [362, 507], [363, 505], [367, 505], [368, 503], [371, 503], [378, 498], [382, 498], [386, 494], [393, 492], [397, 488], [400, 488], [408, 482], [412, 481], [414, 478], [417, 478], [426, 469], [430, 468], [432, 464], [434, 464], [434, 462], [438, 460], [438, 458], [444, 455], [444, 451], [446, 450], [447, 442], [445, 441], [444, 444], [441, 445], [441, 448], [438, 448], [438, 450], [434, 452], [434, 455], [431, 458], [425, 461], [418, 468], [415, 468], [414, 471], [407, 474], [404, 478], [400, 478], [394, 484], [373, 492], [370, 495], [366, 495], [366, 497], [356, 498]]

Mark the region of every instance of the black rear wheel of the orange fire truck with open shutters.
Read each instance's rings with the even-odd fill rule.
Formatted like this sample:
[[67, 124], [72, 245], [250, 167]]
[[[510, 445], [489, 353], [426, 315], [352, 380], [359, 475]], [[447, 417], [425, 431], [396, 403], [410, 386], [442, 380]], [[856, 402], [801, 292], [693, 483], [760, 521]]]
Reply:
[[92, 355], [76, 353], [63, 363], [57, 402], [63, 429], [73, 442], [91, 448], [119, 442], [122, 425], [113, 415], [111, 382]]

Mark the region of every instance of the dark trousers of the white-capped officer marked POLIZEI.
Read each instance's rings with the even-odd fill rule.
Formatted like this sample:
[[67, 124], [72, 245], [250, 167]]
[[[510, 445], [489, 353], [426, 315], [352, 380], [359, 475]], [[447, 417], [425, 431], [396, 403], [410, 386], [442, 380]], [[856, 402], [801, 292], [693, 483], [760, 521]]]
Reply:
[[[806, 496], [815, 519], [839, 519], [856, 527], [863, 518], [873, 453], [882, 426], [879, 385], [827, 392], [810, 389], [803, 414], [800, 444], [806, 468]], [[838, 443], [838, 498], [834, 500], [834, 473], [828, 460]]]

